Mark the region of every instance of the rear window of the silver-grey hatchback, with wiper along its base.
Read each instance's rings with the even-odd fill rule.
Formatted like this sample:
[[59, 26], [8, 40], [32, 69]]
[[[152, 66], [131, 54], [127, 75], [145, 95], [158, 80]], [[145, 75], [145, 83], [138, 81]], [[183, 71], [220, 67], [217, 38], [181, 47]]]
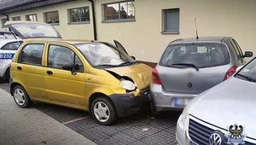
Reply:
[[160, 59], [160, 66], [188, 63], [198, 68], [218, 67], [230, 63], [224, 44], [171, 44]]

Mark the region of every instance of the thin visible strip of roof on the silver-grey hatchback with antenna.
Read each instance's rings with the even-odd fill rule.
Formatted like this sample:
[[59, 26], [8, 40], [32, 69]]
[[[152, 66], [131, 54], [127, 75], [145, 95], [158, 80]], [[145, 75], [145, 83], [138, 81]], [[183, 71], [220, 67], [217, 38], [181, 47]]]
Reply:
[[217, 42], [222, 43], [224, 39], [231, 37], [221, 37], [221, 36], [210, 36], [210, 37], [199, 37], [196, 38], [177, 38], [173, 40], [170, 44], [184, 44], [184, 43], [203, 43], [203, 42]]

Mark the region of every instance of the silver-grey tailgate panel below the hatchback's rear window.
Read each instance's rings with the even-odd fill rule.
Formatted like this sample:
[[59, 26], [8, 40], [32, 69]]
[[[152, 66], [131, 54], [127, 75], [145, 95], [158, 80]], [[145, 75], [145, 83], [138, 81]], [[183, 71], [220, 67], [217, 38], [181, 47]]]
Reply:
[[157, 67], [163, 88], [168, 92], [199, 94], [224, 80], [230, 65], [220, 67]]

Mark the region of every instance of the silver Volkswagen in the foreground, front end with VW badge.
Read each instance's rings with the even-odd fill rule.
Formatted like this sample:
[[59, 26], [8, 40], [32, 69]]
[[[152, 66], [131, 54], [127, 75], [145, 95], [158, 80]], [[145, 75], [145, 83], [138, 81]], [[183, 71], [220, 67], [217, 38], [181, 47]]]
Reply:
[[255, 89], [256, 57], [189, 102], [177, 120], [177, 143], [256, 144]]

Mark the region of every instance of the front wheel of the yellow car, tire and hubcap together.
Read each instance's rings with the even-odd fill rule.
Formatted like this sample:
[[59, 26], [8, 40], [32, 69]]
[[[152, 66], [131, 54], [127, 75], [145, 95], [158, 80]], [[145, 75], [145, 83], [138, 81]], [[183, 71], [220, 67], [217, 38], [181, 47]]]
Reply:
[[91, 104], [91, 113], [100, 125], [112, 125], [118, 118], [113, 102], [106, 97], [97, 97]]

